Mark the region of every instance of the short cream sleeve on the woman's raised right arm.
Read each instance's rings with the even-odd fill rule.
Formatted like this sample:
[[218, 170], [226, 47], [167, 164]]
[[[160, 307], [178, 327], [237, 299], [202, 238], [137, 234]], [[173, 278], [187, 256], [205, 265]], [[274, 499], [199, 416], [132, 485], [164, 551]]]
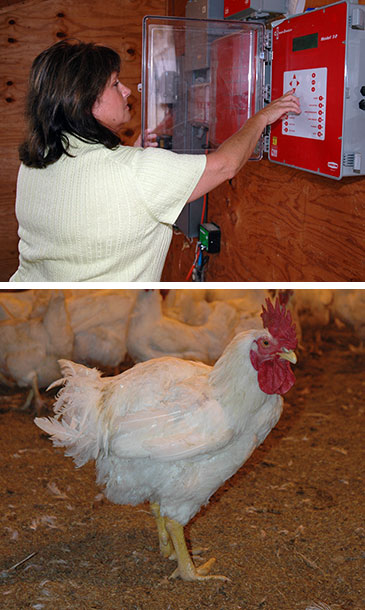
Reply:
[[138, 152], [133, 173], [142, 199], [159, 222], [173, 224], [204, 172], [206, 155], [181, 155], [152, 147]]

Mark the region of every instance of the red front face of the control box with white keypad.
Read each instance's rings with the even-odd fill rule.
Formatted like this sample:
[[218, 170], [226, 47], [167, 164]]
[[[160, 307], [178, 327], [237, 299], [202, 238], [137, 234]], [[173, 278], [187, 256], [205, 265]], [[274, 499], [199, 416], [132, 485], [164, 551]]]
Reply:
[[341, 177], [346, 32], [345, 2], [273, 28], [271, 98], [293, 89], [302, 112], [272, 125], [271, 161]]

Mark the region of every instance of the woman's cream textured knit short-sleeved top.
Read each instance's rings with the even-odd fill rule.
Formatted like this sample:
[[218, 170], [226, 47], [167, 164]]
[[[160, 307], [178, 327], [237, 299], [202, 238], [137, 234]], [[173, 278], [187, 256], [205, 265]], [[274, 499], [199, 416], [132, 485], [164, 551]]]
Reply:
[[198, 183], [205, 155], [109, 150], [74, 136], [44, 169], [21, 165], [17, 282], [159, 281], [172, 224]]

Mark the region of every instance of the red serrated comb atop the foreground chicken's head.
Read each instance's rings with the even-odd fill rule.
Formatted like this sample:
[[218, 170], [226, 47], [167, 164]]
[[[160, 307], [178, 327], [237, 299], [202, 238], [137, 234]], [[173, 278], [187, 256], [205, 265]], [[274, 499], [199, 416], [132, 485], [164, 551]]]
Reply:
[[290, 311], [285, 309], [285, 305], [280, 305], [279, 299], [275, 301], [275, 307], [270, 299], [266, 299], [266, 307], [262, 306], [261, 318], [264, 328], [270, 332], [287, 349], [295, 349], [297, 346], [297, 336], [295, 324], [293, 324]]

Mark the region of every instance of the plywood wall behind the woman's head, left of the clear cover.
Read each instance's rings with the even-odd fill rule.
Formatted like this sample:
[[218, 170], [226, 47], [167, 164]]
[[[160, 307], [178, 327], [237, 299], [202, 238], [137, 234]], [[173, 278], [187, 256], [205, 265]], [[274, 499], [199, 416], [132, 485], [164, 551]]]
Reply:
[[132, 90], [133, 118], [124, 139], [131, 143], [140, 129], [142, 19], [165, 14], [165, 0], [29, 0], [0, 9], [0, 281], [18, 265], [14, 215], [17, 148], [24, 131], [23, 109], [29, 68], [34, 57], [66, 37], [101, 42], [115, 48], [123, 61], [123, 82]]

